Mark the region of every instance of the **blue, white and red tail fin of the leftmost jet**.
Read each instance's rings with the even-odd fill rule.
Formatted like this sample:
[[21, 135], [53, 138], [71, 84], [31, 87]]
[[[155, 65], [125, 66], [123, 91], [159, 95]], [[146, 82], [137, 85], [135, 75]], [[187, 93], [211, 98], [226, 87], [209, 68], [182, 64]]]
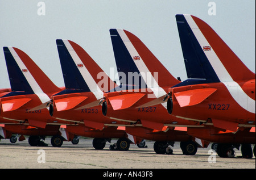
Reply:
[[61, 91], [26, 53], [14, 47], [3, 47], [3, 52], [12, 91], [30, 94]]

